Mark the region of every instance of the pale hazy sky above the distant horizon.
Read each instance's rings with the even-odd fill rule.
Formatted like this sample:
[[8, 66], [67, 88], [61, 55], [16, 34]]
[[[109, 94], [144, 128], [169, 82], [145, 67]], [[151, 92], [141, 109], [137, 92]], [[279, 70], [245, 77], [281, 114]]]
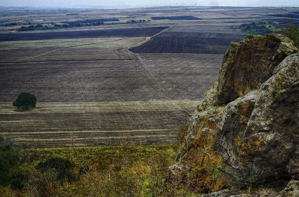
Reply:
[[157, 6], [157, 5], [219, 5], [219, 6], [290, 6], [299, 7], [299, 0], [0, 0], [0, 6], [76, 7], [87, 6]]

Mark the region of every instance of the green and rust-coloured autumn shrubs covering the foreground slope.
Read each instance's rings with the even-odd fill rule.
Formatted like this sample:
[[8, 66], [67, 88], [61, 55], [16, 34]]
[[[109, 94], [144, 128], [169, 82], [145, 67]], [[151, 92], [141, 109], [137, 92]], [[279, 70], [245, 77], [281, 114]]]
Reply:
[[[210, 165], [206, 172], [169, 168], [176, 145], [132, 146], [130, 136], [111, 147], [21, 150], [1, 136], [0, 193], [8, 196], [191, 196], [222, 188], [222, 176]], [[2, 197], [1, 196], [1, 197]]]

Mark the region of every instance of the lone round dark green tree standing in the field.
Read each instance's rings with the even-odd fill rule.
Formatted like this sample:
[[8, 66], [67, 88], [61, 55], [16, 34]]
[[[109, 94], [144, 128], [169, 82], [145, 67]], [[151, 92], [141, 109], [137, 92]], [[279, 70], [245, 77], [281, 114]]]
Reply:
[[35, 108], [36, 105], [36, 97], [34, 94], [30, 94], [28, 92], [21, 92], [17, 99], [13, 102], [13, 106], [18, 109], [28, 109]]

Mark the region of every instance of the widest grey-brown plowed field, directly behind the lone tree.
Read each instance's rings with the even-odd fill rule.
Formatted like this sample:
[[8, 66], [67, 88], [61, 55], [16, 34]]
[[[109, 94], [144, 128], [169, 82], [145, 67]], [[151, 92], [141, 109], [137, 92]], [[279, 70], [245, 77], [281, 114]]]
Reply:
[[11, 62], [0, 66], [0, 101], [30, 92], [40, 102], [201, 100], [222, 55], [144, 54], [137, 60]]

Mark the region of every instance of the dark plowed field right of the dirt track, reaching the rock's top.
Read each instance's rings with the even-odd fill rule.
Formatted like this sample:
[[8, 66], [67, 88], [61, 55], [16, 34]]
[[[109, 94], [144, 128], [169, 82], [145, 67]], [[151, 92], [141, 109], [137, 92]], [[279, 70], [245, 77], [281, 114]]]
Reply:
[[225, 54], [231, 42], [241, 41], [245, 35], [240, 32], [222, 33], [202, 30], [199, 27], [171, 27], [152, 37], [148, 42], [129, 51], [133, 53], [187, 53], [187, 54]]

